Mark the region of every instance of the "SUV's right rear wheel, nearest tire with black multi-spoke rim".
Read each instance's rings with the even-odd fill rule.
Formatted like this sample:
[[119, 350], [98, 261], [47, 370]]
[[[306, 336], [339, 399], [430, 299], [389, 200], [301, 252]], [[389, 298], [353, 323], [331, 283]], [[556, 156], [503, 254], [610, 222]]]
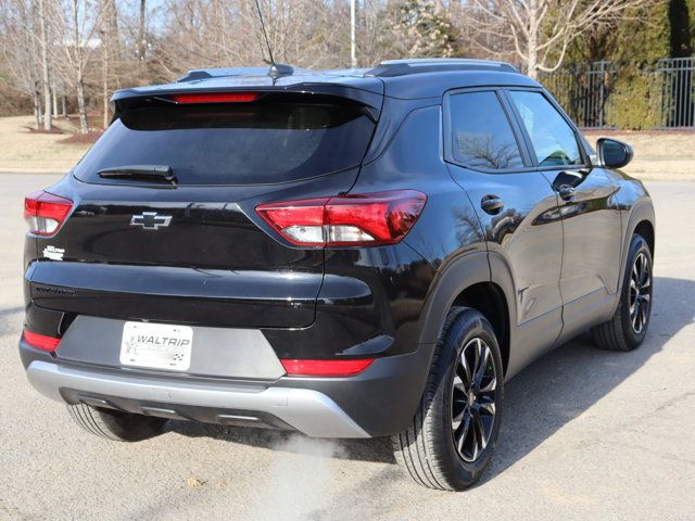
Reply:
[[[467, 377], [460, 360], [465, 358], [469, 367], [475, 366], [477, 353], [482, 353], [486, 361], [479, 366], [483, 368], [481, 381], [469, 385], [465, 380], [470, 382], [476, 378]], [[396, 461], [416, 483], [442, 491], [463, 491], [480, 479], [490, 463], [500, 432], [503, 374], [500, 346], [490, 322], [475, 309], [452, 309], [435, 347], [413, 423], [392, 436]], [[476, 387], [472, 395], [469, 394], [471, 386]], [[494, 390], [485, 391], [490, 387]], [[462, 436], [464, 432], [468, 434]], [[476, 440], [471, 436], [480, 434], [481, 443], [475, 450]]]

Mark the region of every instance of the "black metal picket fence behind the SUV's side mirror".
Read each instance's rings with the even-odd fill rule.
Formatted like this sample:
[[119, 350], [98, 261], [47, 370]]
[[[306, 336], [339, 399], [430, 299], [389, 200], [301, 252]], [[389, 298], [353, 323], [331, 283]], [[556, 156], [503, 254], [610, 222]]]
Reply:
[[601, 61], [571, 63], [539, 79], [584, 128], [695, 129], [694, 71], [695, 58]]

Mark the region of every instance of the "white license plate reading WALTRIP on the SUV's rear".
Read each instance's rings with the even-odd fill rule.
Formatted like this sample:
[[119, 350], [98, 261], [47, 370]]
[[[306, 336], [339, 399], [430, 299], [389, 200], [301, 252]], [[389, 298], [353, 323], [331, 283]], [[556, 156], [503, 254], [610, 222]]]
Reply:
[[187, 326], [126, 322], [121, 341], [121, 364], [186, 371], [191, 365], [193, 330]]

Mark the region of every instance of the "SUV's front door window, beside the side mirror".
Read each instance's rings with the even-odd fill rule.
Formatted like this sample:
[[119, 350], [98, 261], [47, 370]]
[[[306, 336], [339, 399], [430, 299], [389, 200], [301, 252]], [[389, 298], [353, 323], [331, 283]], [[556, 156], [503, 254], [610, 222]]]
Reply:
[[540, 166], [583, 165], [572, 127], [540, 92], [509, 92], [531, 137]]

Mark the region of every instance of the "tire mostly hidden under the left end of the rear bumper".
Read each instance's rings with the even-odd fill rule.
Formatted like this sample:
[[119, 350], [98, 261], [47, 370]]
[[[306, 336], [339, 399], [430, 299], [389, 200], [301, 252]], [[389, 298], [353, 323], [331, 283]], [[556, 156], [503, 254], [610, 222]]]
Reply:
[[68, 405], [75, 422], [90, 434], [114, 442], [140, 442], [161, 434], [165, 418], [100, 409], [84, 404]]

